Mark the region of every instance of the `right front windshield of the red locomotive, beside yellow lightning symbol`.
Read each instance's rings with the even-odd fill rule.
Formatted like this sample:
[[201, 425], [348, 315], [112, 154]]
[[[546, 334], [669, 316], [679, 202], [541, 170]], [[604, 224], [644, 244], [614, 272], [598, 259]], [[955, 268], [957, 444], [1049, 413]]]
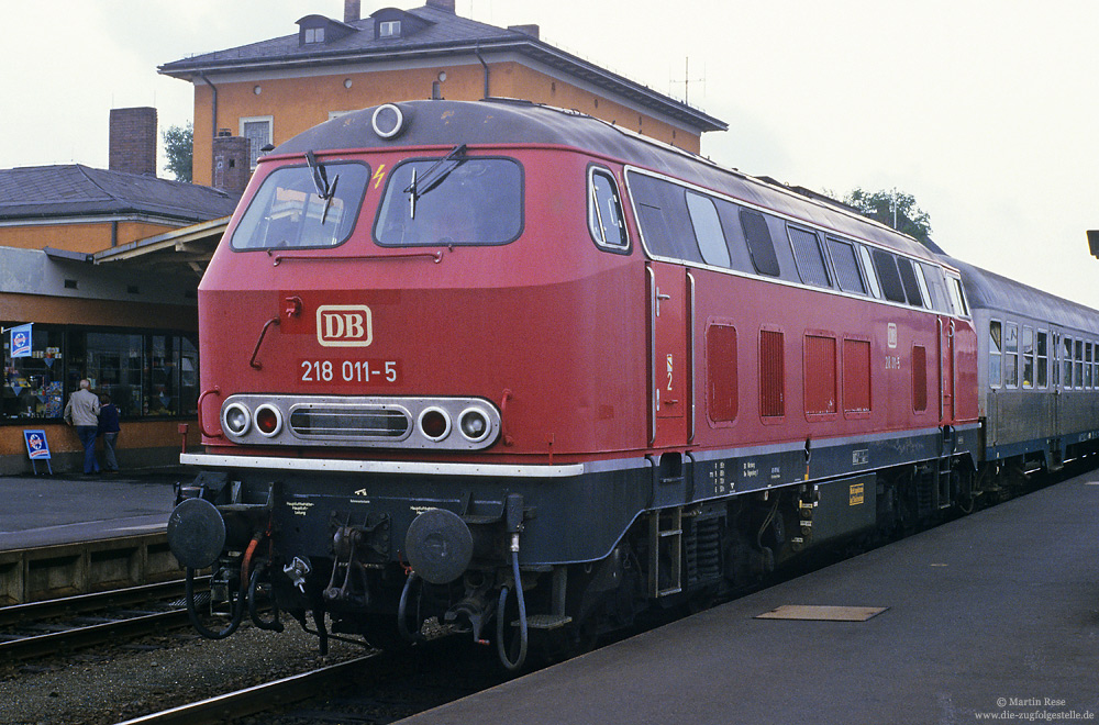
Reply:
[[382, 246], [507, 244], [523, 226], [519, 164], [504, 158], [424, 159], [393, 169], [374, 238]]

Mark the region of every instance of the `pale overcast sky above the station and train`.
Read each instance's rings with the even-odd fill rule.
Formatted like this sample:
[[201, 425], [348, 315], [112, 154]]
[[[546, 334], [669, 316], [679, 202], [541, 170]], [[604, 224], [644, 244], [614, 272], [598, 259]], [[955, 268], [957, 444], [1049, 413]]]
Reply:
[[[363, 15], [389, 2], [363, 0]], [[191, 85], [158, 65], [289, 35], [302, 15], [343, 18], [343, 0], [3, 9], [0, 168], [106, 168], [111, 108], [155, 105], [162, 131], [191, 120]], [[539, 24], [543, 41], [678, 98], [686, 77], [689, 102], [729, 123], [703, 136], [713, 160], [837, 196], [899, 189], [954, 256], [1099, 308], [1085, 234], [1099, 228], [1099, 2], [457, 0], [457, 11]]]

